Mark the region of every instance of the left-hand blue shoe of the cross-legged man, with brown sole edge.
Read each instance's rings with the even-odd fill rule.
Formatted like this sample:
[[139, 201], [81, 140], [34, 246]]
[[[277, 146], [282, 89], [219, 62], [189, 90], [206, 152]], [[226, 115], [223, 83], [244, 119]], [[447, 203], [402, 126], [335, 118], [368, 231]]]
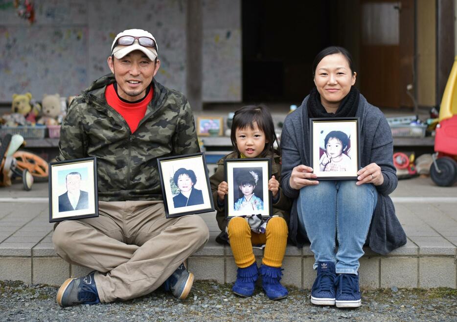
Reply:
[[94, 273], [95, 271], [83, 277], [67, 279], [57, 291], [57, 304], [66, 307], [76, 304], [100, 303], [97, 286], [93, 279]]

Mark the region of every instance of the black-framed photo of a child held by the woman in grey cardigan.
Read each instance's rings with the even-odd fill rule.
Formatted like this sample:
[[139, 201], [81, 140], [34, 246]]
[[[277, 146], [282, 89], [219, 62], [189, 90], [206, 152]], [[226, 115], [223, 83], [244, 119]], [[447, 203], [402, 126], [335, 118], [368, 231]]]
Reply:
[[310, 118], [311, 167], [317, 180], [357, 179], [359, 118]]

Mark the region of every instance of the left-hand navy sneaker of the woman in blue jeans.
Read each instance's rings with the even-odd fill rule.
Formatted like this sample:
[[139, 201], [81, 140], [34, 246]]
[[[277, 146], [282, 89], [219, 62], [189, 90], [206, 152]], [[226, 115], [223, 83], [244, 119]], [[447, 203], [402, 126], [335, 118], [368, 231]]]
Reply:
[[335, 305], [335, 264], [319, 262], [318, 276], [311, 289], [311, 303], [316, 305]]

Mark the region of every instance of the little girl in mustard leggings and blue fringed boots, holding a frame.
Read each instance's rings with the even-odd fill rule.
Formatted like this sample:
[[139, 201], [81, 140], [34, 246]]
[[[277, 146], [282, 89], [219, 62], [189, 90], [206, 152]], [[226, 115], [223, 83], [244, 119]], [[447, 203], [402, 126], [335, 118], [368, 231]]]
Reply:
[[[283, 299], [287, 297], [288, 291], [279, 281], [282, 276], [282, 259], [286, 251], [287, 222], [291, 202], [283, 195], [282, 189], [279, 187], [280, 156], [279, 152], [273, 148], [277, 138], [274, 133], [273, 118], [268, 109], [265, 106], [245, 106], [236, 111], [233, 116], [230, 138], [234, 152], [218, 161], [218, 168], [216, 173], [211, 176], [210, 183], [217, 210], [216, 219], [222, 230], [216, 241], [230, 243], [235, 263], [238, 266], [232, 291], [239, 296], [250, 297], [254, 292], [255, 281], [258, 275], [261, 275], [262, 287], [267, 297]], [[251, 220], [252, 218], [225, 219], [224, 201], [229, 193], [229, 185], [224, 181], [224, 159], [226, 158], [272, 159], [273, 175], [268, 181], [268, 189], [273, 194], [273, 213], [271, 215], [274, 217], [260, 225], [262, 226], [260, 230], [260, 226]], [[240, 189], [242, 186], [240, 184]], [[252, 245], [258, 244], [266, 245], [259, 269], [252, 253]]]

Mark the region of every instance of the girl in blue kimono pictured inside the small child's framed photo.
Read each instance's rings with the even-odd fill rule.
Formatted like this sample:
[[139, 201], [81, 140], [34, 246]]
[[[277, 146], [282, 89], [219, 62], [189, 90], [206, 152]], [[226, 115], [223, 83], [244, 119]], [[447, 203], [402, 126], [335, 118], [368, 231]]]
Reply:
[[237, 182], [243, 197], [233, 205], [235, 210], [263, 210], [263, 200], [254, 194], [258, 180], [259, 175], [255, 171], [244, 170], [238, 175]]

